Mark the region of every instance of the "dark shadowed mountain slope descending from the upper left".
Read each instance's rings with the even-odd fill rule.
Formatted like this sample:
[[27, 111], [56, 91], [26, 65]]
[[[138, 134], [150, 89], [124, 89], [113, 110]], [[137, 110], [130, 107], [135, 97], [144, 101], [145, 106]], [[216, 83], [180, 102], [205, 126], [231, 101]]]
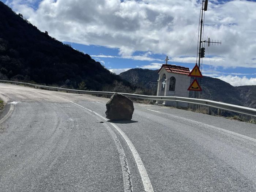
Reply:
[[123, 81], [88, 54], [39, 31], [1, 1], [0, 18], [0, 79], [74, 88], [84, 81], [93, 90]]

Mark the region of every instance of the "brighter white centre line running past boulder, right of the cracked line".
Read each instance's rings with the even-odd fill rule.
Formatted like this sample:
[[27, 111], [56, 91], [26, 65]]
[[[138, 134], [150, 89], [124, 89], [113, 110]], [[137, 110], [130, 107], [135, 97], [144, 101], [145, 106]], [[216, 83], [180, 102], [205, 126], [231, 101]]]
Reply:
[[[54, 96], [55, 96], [55, 97], [59, 97], [59, 96], [56, 96], [56, 95], [54, 95]], [[64, 98], [62, 98], [62, 97], [59, 97], [59, 98], [64, 99]], [[97, 116], [103, 118], [104, 120], [108, 121], [107, 118], [101, 116], [100, 114], [94, 112], [93, 110], [87, 109], [86, 107], [84, 107], [84, 106], [82, 106], [82, 105], [79, 105], [79, 104], [77, 104], [77, 103], [75, 103], [75, 102], [73, 102], [73, 101], [70, 101], [70, 100], [68, 100], [68, 99], [64, 99], [64, 100], [69, 101], [69, 102], [71, 102], [71, 103], [73, 103], [73, 104], [75, 104], [75, 105], [77, 105], [77, 106], [79, 106], [79, 107], [81, 107], [81, 108], [83, 108], [83, 109], [86, 109], [86, 110], [88, 110], [88, 111], [90, 111], [90, 112], [96, 114]], [[110, 122], [109, 122], [109, 123], [110, 123]], [[123, 136], [125, 142], [126, 142], [127, 145], [129, 146], [129, 148], [130, 148], [130, 150], [131, 150], [131, 152], [132, 152], [132, 155], [133, 155], [133, 157], [134, 157], [134, 159], [135, 159], [135, 162], [136, 162], [136, 164], [137, 164], [137, 166], [138, 166], [139, 173], [140, 173], [140, 177], [142, 178], [142, 183], [143, 183], [143, 186], [144, 186], [144, 190], [145, 190], [146, 192], [154, 192], [153, 187], [152, 187], [151, 182], [150, 182], [150, 179], [149, 179], [149, 177], [148, 177], [147, 171], [146, 171], [146, 169], [145, 169], [145, 167], [144, 167], [144, 164], [143, 164], [143, 162], [142, 162], [142, 160], [141, 160], [141, 158], [140, 158], [140, 156], [139, 156], [139, 154], [138, 154], [136, 148], [133, 146], [131, 140], [127, 137], [127, 135], [125, 135], [125, 133], [124, 133], [116, 124], [114, 124], [114, 123], [110, 123], [110, 124], [111, 124], [114, 128], [116, 128], [116, 130], [121, 134], [121, 136]]]

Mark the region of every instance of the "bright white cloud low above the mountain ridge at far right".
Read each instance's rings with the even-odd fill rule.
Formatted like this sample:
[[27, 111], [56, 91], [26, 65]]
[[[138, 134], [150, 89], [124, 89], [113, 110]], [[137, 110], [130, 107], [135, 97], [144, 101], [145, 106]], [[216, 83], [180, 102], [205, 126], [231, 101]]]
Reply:
[[221, 79], [233, 86], [242, 86], [242, 85], [256, 85], [256, 78], [247, 78], [246, 76], [238, 77], [236, 76], [219, 76], [218, 79]]

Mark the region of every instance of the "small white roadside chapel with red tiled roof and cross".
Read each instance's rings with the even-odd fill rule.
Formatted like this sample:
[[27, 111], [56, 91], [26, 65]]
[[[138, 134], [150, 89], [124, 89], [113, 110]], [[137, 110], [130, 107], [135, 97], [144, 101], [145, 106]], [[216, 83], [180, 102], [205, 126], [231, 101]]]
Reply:
[[[188, 87], [191, 83], [191, 77], [188, 76], [189, 68], [169, 65], [167, 64], [168, 60], [166, 57], [166, 63], [158, 71], [157, 96], [188, 97]], [[157, 101], [156, 104], [176, 106], [175, 101]], [[187, 108], [188, 103], [178, 102], [177, 106]]]

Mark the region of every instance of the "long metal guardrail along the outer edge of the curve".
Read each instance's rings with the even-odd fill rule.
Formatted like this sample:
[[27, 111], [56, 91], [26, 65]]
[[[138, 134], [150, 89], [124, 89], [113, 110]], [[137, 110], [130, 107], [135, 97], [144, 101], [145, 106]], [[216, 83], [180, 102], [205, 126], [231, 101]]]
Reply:
[[[34, 88], [41, 88], [53, 91], [66, 91], [69, 93], [79, 93], [79, 94], [97, 94], [97, 95], [113, 95], [113, 92], [105, 92], [105, 91], [82, 91], [82, 90], [74, 90], [74, 89], [63, 89], [58, 87], [49, 87], [31, 83], [23, 83], [23, 82], [15, 82], [15, 81], [6, 81], [0, 80], [1, 83], [12, 83], [12, 84], [22, 84], [24, 86], [30, 86]], [[137, 95], [137, 94], [130, 94], [130, 93], [121, 93], [127, 97], [131, 98], [138, 98], [138, 99], [148, 99], [148, 100], [157, 100], [157, 101], [176, 101], [176, 102], [185, 102], [185, 103], [192, 103], [196, 105], [204, 105], [210, 108], [217, 108], [228, 110], [231, 112], [247, 114], [256, 117], [256, 109], [247, 108], [238, 105], [232, 105], [223, 102], [211, 101], [206, 99], [194, 99], [194, 98], [187, 98], [187, 97], [168, 97], [168, 96], [150, 96], [150, 95]]]

